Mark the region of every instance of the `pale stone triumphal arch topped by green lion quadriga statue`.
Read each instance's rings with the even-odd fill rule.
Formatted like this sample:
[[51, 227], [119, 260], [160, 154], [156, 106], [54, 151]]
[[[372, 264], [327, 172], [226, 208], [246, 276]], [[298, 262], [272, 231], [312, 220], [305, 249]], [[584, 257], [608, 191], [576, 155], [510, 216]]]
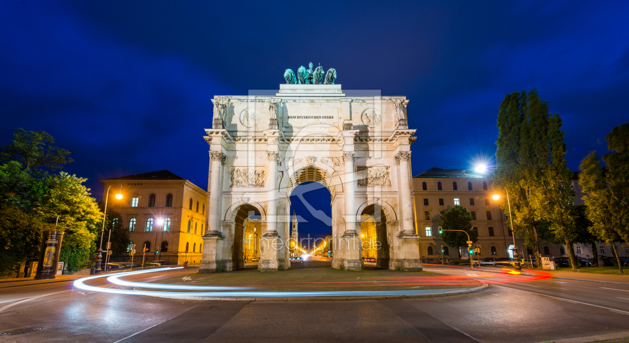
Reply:
[[[334, 69], [287, 69], [284, 78], [275, 94], [212, 99], [199, 273], [244, 267], [243, 223], [252, 215], [262, 231], [259, 270], [290, 268], [289, 199], [307, 181], [330, 190], [333, 268], [361, 270], [361, 246], [376, 244], [377, 266], [420, 271], [406, 97], [346, 95]], [[377, 223], [377, 242], [361, 241], [365, 214]]]

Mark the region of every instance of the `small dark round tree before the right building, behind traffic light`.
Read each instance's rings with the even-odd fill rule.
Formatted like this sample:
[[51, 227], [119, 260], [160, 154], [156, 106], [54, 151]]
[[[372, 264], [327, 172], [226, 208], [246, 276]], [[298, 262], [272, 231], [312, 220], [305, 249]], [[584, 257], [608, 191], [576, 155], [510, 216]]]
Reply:
[[[441, 215], [443, 230], [462, 230], [469, 234], [472, 242], [478, 241], [478, 232], [472, 230], [472, 214], [461, 205], [454, 205], [450, 210]], [[460, 231], [443, 231], [442, 241], [452, 248], [467, 247], [467, 234]], [[459, 254], [460, 257], [460, 254]]]

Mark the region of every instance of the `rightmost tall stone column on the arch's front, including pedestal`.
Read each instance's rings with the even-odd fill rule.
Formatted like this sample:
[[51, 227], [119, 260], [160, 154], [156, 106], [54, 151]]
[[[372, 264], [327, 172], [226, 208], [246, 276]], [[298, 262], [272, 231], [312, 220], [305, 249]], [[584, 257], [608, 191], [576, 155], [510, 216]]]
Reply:
[[[395, 155], [396, 165], [399, 165], [398, 177], [400, 178], [401, 192], [401, 221], [398, 234], [399, 252], [395, 256], [391, 265], [392, 269], [401, 269], [404, 271], [421, 271], [420, 250], [418, 247], [419, 235], [415, 233], [413, 225], [413, 202], [411, 200], [411, 175], [408, 172], [408, 161], [411, 160], [411, 151], [400, 151]], [[394, 232], [392, 232], [394, 233]], [[390, 267], [390, 268], [391, 268]]]

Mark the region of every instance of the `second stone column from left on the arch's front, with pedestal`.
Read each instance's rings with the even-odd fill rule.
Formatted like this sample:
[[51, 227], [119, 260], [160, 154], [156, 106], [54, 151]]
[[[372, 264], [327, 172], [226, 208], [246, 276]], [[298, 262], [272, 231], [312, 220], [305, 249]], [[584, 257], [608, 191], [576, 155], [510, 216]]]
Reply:
[[260, 239], [260, 271], [277, 271], [277, 156], [278, 151], [267, 151], [269, 175], [267, 177], [267, 230]]

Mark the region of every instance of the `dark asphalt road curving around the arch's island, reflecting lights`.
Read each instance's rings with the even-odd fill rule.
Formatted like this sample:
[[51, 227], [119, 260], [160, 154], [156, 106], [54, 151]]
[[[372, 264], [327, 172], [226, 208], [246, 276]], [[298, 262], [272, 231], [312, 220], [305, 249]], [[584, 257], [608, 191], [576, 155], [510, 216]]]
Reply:
[[[306, 262], [293, 268], [325, 265]], [[453, 275], [485, 272], [427, 269]], [[104, 279], [89, 284], [124, 288]], [[569, 280], [504, 283], [442, 298], [343, 302], [201, 302], [82, 291], [72, 289], [72, 282], [0, 287], [5, 287], [0, 288], [0, 334], [43, 328], [0, 341], [540, 342], [629, 330], [629, 286]]]

